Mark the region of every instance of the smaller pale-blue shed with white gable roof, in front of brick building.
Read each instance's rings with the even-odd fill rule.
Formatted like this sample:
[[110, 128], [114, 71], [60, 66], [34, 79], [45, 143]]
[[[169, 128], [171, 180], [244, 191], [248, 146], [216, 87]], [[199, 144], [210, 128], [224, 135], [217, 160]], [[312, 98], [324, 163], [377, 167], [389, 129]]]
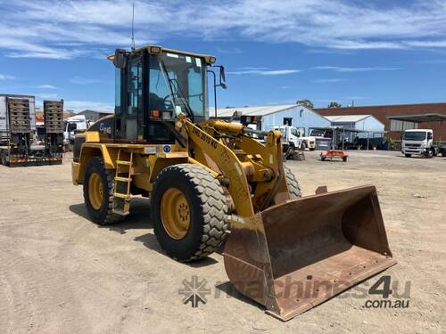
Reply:
[[366, 138], [368, 133], [373, 134], [370, 137], [384, 136], [384, 124], [372, 115], [336, 115], [326, 118], [331, 122], [331, 126], [359, 130], [359, 138]]

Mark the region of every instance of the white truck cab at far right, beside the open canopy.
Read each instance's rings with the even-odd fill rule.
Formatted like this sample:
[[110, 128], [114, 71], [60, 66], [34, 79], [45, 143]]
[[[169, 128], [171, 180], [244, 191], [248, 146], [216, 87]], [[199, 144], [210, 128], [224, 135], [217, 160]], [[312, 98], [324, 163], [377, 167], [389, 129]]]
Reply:
[[406, 158], [413, 154], [432, 158], [435, 154], [432, 129], [410, 129], [402, 134], [401, 152]]

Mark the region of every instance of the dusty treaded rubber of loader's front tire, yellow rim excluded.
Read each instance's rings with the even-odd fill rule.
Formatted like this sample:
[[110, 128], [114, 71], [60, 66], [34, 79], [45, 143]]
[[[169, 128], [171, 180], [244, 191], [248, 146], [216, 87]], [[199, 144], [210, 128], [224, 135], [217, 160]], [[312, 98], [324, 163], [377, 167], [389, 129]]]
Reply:
[[[169, 236], [161, 221], [161, 198], [174, 187], [182, 191], [191, 209], [191, 223], [186, 236], [176, 240]], [[178, 164], [164, 168], [157, 176], [151, 196], [153, 231], [161, 248], [181, 262], [208, 257], [225, 239], [229, 208], [219, 181], [205, 168]]]

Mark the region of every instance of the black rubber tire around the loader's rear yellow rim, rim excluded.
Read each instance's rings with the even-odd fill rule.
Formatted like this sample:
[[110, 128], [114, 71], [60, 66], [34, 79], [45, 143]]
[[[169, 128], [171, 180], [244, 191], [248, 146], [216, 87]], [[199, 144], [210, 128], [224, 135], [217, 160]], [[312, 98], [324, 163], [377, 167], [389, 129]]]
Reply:
[[[93, 173], [101, 176], [103, 183], [103, 205], [99, 210], [95, 210], [88, 199], [88, 180]], [[113, 192], [114, 192], [114, 171], [106, 169], [103, 164], [103, 159], [100, 157], [93, 157], [88, 160], [86, 166], [86, 173], [84, 177], [84, 200], [87, 206], [88, 216], [96, 224], [106, 225], [118, 223], [123, 219], [123, 216], [113, 214]]]

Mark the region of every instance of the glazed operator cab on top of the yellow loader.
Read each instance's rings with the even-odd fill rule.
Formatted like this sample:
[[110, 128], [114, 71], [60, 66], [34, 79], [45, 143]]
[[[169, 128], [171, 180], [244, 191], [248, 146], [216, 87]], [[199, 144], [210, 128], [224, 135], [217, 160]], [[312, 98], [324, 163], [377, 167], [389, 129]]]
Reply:
[[116, 67], [114, 142], [174, 143], [180, 113], [194, 123], [209, 118], [207, 67], [215, 57], [147, 45], [108, 59]]

